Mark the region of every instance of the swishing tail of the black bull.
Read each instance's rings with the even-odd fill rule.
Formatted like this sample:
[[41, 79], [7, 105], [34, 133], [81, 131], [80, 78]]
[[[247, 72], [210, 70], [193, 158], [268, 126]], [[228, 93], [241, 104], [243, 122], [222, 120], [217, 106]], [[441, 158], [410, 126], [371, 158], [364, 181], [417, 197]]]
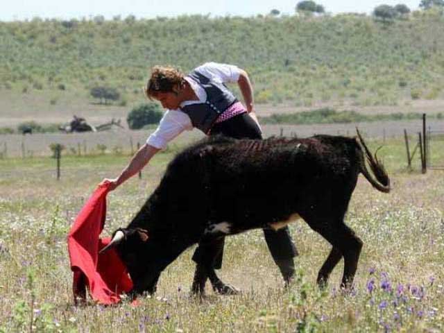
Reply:
[[370, 165], [370, 169], [372, 170], [373, 175], [376, 177], [376, 180], [373, 178], [370, 172], [368, 172], [366, 162], [364, 160], [364, 155], [359, 154], [361, 155], [361, 173], [364, 175], [366, 180], [368, 180], [368, 182], [370, 182], [370, 184], [375, 187], [375, 189], [384, 193], [388, 193], [390, 191], [390, 178], [388, 178], [388, 173], [384, 168], [384, 165], [377, 158], [377, 151], [379, 151], [380, 147], [375, 152], [375, 156], [373, 156], [366, 143], [364, 142], [364, 139], [361, 137], [361, 133], [359, 133], [358, 128], [356, 128], [356, 131], [358, 133], [359, 143], [364, 148], [368, 165]]

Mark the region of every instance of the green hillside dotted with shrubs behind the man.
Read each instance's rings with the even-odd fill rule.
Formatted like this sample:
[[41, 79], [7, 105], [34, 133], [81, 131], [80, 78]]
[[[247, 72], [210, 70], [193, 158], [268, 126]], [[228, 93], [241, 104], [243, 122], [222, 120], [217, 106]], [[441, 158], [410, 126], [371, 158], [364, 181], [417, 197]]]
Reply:
[[87, 99], [108, 85], [125, 105], [143, 97], [153, 65], [216, 61], [250, 73], [257, 103], [441, 99], [443, 31], [433, 11], [388, 24], [364, 15], [0, 22], [0, 89]]

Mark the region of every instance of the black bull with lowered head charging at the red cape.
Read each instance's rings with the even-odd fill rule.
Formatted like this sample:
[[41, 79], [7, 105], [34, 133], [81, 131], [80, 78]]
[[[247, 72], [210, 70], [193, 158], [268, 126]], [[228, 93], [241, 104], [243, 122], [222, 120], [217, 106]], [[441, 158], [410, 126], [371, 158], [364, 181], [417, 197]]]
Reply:
[[[193, 244], [280, 228], [298, 217], [332, 244], [318, 284], [327, 282], [343, 257], [341, 285], [350, 286], [362, 241], [343, 219], [359, 173], [379, 191], [390, 191], [384, 167], [358, 136], [361, 145], [357, 138], [327, 135], [263, 141], [213, 137], [176, 155], [133, 221], [114, 232], [111, 246], [128, 268], [133, 293], [153, 293], [160, 272]], [[213, 260], [204, 255], [214, 283]]]

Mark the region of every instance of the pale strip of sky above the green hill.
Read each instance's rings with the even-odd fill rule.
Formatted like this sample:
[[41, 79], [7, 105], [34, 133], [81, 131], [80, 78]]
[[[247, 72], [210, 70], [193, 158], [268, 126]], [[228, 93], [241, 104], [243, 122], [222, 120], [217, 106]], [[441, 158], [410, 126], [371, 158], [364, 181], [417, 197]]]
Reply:
[[[277, 9], [282, 14], [293, 15], [300, 0], [0, 0], [0, 21], [32, 19], [33, 17], [81, 19], [103, 15], [112, 19], [120, 15], [137, 18], [157, 16], [210, 14], [217, 16], [255, 16]], [[411, 10], [418, 9], [420, 0], [319, 0], [327, 12], [365, 12], [369, 14], [381, 4], [404, 3]]]

